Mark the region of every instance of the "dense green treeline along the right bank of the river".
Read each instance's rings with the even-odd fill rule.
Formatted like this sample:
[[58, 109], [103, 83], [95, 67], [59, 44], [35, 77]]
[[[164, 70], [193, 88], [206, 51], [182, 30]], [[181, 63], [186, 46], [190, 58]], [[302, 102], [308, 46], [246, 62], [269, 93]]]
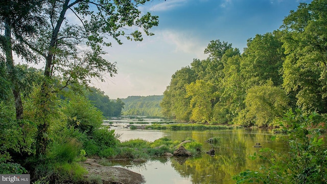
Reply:
[[273, 126], [289, 108], [327, 112], [325, 1], [301, 3], [279, 30], [247, 40], [241, 54], [213, 40], [171, 79], [161, 102], [166, 117], [209, 124]]

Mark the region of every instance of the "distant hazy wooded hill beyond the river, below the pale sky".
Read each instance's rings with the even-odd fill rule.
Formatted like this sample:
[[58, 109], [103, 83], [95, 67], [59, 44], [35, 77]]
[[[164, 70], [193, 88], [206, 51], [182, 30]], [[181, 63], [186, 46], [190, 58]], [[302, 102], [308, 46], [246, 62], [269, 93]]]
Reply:
[[124, 116], [155, 116], [162, 117], [160, 102], [164, 95], [129, 96], [121, 99], [124, 103], [122, 114]]

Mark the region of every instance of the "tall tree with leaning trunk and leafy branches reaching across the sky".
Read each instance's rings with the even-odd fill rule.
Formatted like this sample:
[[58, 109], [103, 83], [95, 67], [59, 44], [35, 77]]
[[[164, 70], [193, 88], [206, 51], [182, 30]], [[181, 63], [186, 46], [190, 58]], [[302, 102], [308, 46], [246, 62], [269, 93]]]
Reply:
[[[136, 26], [147, 35], [153, 35], [149, 29], [158, 25], [158, 17], [150, 13], [142, 14], [139, 5], [150, 0], [109, 1], [74, 0], [44, 1], [39, 9], [47, 17], [44, 25], [37, 31], [38, 37], [20, 35], [19, 41], [24, 47], [37, 53], [45, 62], [44, 81], [40, 89], [40, 104], [37, 134], [37, 155], [44, 154], [48, 145], [46, 131], [49, 127], [48, 114], [51, 113], [51, 96], [71, 83], [88, 83], [90, 78], [102, 78], [103, 73], [113, 76], [116, 73], [114, 63], [102, 56], [102, 45], [110, 46], [110, 37], [122, 44], [121, 36], [142, 41], [142, 33], [125, 33], [125, 27]], [[67, 13], [75, 15], [80, 22], [68, 19]], [[80, 52], [80, 48], [84, 48]], [[54, 76], [62, 81], [55, 83]], [[59, 85], [58, 85], [59, 84]]]

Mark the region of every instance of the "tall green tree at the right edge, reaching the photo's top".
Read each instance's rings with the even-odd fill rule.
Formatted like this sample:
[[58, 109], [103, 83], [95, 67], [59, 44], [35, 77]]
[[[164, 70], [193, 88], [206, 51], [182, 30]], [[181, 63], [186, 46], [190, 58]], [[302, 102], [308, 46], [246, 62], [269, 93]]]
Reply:
[[284, 19], [283, 86], [303, 111], [327, 112], [327, 1], [301, 3]]

